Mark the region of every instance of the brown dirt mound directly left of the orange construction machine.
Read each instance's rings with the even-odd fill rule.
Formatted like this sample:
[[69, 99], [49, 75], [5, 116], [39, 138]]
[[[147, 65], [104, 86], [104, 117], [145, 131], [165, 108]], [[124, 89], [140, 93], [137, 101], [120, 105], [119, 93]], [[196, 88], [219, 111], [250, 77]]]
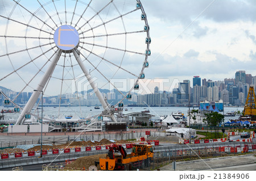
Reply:
[[[88, 157], [81, 157], [77, 158], [76, 161], [69, 163], [66, 167], [67, 168], [85, 168], [89, 169], [90, 166], [95, 165], [95, 161], [100, 161], [100, 158], [106, 158], [106, 154], [98, 154], [98, 155], [91, 155]], [[97, 166], [97, 169], [100, 170], [100, 166]]]

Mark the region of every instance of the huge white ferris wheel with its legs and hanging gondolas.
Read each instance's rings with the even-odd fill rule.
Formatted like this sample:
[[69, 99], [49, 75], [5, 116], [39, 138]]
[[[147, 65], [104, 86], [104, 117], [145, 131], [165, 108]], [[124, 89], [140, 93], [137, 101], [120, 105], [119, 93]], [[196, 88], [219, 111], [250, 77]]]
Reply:
[[[117, 121], [115, 107], [139, 89], [151, 54], [141, 1], [13, 0], [0, 10], [0, 86], [16, 92], [1, 91], [4, 103], [20, 111], [16, 124], [34, 115], [40, 94], [55, 95], [60, 110], [63, 103], [81, 105], [88, 87], [102, 113]], [[120, 79], [132, 80], [125, 82], [127, 91], [118, 86]], [[100, 89], [117, 91], [118, 102], [109, 103]], [[32, 93], [21, 107], [24, 92]]]

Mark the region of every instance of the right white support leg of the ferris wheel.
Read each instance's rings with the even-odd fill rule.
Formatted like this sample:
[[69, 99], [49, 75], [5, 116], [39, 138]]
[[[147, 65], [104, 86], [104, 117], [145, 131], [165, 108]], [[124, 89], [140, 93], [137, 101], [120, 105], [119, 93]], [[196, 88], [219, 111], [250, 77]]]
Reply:
[[[85, 74], [85, 77], [87, 78], [88, 82], [90, 83], [90, 86], [92, 87], [94, 93], [96, 94], [96, 96], [98, 97], [98, 100], [100, 100], [102, 107], [104, 108], [104, 110], [109, 110], [108, 104], [106, 103], [105, 99], [103, 98], [100, 90], [98, 90], [98, 87], [95, 85], [93, 79], [92, 79], [92, 75], [90, 75], [89, 71], [85, 68], [84, 64], [82, 63], [81, 57], [79, 56], [79, 54], [76, 53], [76, 50], [73, 49], [72, 50], [73, 54], [76, 57], [77, 62], [80, 65], [80, 68], [82, 69], [82, 71]], [[110, 114], [110, 119], [114, 122], [117, 122], [117, 120], [115, 119], [113, 114]]]

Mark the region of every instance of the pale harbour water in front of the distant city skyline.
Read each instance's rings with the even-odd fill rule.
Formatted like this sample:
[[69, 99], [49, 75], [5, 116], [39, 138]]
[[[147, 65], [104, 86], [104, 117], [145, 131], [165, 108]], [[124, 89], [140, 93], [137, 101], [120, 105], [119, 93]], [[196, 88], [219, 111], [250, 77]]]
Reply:
[[[127, 111], [125, 109], [127, 108]], [[7, 108], [6, 108], [7, 109]], [[10, 108], [11, 110], [12, 108]], [[192, 107], [190, 108], [193, 109]], [[194, 108], [195, 110], [198, 109], [198, 107]], [[100, 107], [100, 110], [95, 110], [93, 106], [91, 107], [44, 107], [43, 108], [43, 116], [46, 117], [47, 115], [50, 118], [57, 119], [58, 115], [66, 116], [79, 116], [81, 118], [86, 118], [90, 116], [98, 115], [102, 112], [103, 108]], [[124, 107], [123, 108], [123, 114], [130, 113], [130, 112], [141, 112], [145, 110], [149, 110], [152, 115], [155, 115], [155, 117], [152, 117], [152, 119], [157, 120], [162, 115], [169, 115], [174, 112], [182, 112], [185, 116], [187, 116], [188, 113], [188, 107]], [[232, 112], [232, 111], [243, 111], [243, 107], [225, 107], [224, 108], [225, 113]], [[32, 111], [32, 113], [41, 116], [41, 110]], [[223, 112], [220, 112], [223, 113]], [[9, 119], [18, 119], [19, 113], [4, 113], [5, 120]], [[238, 116], [235, 117], [225, 117], [225, 122], [229, 121], [230, 119], [238, 119]]]

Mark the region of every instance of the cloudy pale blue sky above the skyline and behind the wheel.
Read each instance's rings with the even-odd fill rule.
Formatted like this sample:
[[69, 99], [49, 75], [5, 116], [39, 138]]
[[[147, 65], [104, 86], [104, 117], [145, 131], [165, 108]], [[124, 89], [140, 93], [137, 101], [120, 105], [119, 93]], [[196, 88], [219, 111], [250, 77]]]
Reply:
[[[0, 2], [1, 15], [8, 15], [13, 5], [7, 6], [10, 1], [0, 0]], [[39, 7], [37, 5], [36, 8], [34, 8], [33, 5], [27, 3], [28, 1], [23, 0], [21, 2], [24, 3], [23, 5], [33, 9], [33, 11]], [[43, 3], [44, 1], [40, 2]], [[97, 3], [100, 1], [94, 2], [95, 6], [97, 6]], [[127, 0], [123, 2], [123, 5], [125, 6], [120, 6], [122, 11], [133, 7], [134, 3], [136, 3], [136, 1]], [[147, 14], [152, 40], [150, 45], [151, 56], [148, 58], [150, 67], [144, 70], [146, 78], [152, 80], [150, 90], [154, 89], [154, 86], [161, 86], [157, 83], [161, 81], [165, 82], [162, 87], [169, 90], [168, 87], [171, 86], [171, 83], [174, 80], [175, 82], [177, 82], [177, 80], [183, 81], [183, 79], [190, 79], [192, 81], [194, 75], [200, 75], [201, 78], [213, 79], [216, 81], [224, 80], [224, 78], [234, 78], [234, 74], [237, 70], [246, 70], [247, 74], [252, 74], [253, 76], [256, 75], [256, 1], [141, 0], [141, 2]], [[19, 9], [16, 10], [17, 12], [22, 11], [23, 16], [16, 15], [16, 18], [26, 19], [27, 12], [20, 9], [22, 8], [19, 7]], [[49, 9], [49, 11], [54, 11], [54, 9]], [[114, 14], [114, 11], [113, 13], [110, 13], [109, 11], [102, 12], [102, 14], [104, 13], [108, 14], [110, 17], [116, 15]], [[54, 12], [52, 12], [52, 14], [54, 14]], [[40, 17], [40, 11], [38, 12], [38, 16]], [[43, 15], [42, 19], [44, 19]], [[48, 20], [48, 22], [51, 22], [51, 20]], [[95, 20], [95, 22], [97, 21]], [[40, 25], [38, 20], [35, 23], [39, 23]], [[121, 24], [122, 22], [116, 23]], [[128, 24], [126, 27], [136, 27], [136, 23], [133, 23], [133, 21], [128, 18], [125, 19], [125, 23]], [[1, 31], [5, 30], [5, 24], [6, 20], [1, 18]], [[116, 26], [117, 24], [113, 24], [113, 26]], [[109, 30], [112, 29], [112, 27], [107, 28], [109, 28]], [[123, 27], [120, 26], [120, 28]], [[45, 30], [47, 30], [47, 28], [45, 28]], [[14, 31], [13, 34], [15, 33], [16, 32]], [[127, 47], [131, 50], [138, 49], [138, 39], [139, 37], [131, 37], [130, 40], [133, 41], [133, 45], [127, 45]], [[101, 40], [98, 41], [100, 42]], [[134, 44], [134, 42], [136, 43]], [[31, 44], [32, 43], [33, 42], [31, 42]], [[15, 47], [15, 45], [19, 45], [19, 42], [10, 41], [9, 45], [10, 47]], [[0, 47], [5, 49], [5, 40], [3, 38], [0, 39]], [[15, 51], [15, 48], [13, 51]], [[98, 49], [98, 52], [101, 56], [104, 54], [104, 50], [101, 51], [101, 49]], [[0, 54], [5, 53], [6, 52], [2, 50]], [[108, 52], [105, 52], [105, 54], [108, 56]], [[109, 58], [112, 60], [117, 58], [119, 60], [120, 57], [123, 57], [122, 53], [114, 55], [118, 56], [118, 58], [113, 57], [113, 53], [109, 53]], [[134, 56], [128, 54], [124, 57], [124, 62], [126, 60], [130, 62], [131, 70], [137, 68], [138, 65], [135, 64], [138, 60], [137, 55]], [[3, 59], [0, 61], [3, 62]], [[10, 65], [9, 62], [6, 62], [6, 64]], [[40, 64], [40, 62], [38, 64]], [[125, 67], [127, 67], [127, 65], [123, 64]], [[112, 78], [112, 75], [108, 75], [109, 71], [104, 69], [105, 67], [106, 65], [104, 66], [103, 64], [102, 71], [106, 71], [104, 74], [106, 74], [107, 77]], [[108, 65], [108, 68], [114, 69], [114, 67], [111, 68], [111, 65]], [[2, 69], [3, 67], [1, 66], [1, 70]], [[26, 72], [28, 73], [28, 71]], [[35, 71], [35, 73], [36, 72], [37, 71]], [[77, 73], [77, 75], [79, 74], [80, 72]], [[1, 77], [5, 75], [6, 74], [2, 73]], [[115, 75], [121, 76], [121, 74]], [[97, 75], [95, 76], [97, 77]], [[126, 78], [125, 75], [123, 75], [122, 78]], [[29, 79], [27, 79], [27, 82], [28, 81]], [[144, 80], [144, 82], [147, 81], [147, 79]], [[55, 82], [53, 81], [53, 84], [54, 83]], [[4, 85], [1, 84], [1, 86]], [[10, 88], [13, 87], [14, 86], [10, 86]], [[54, 94], [55, 93], [56, 92], [54, 92]]]

